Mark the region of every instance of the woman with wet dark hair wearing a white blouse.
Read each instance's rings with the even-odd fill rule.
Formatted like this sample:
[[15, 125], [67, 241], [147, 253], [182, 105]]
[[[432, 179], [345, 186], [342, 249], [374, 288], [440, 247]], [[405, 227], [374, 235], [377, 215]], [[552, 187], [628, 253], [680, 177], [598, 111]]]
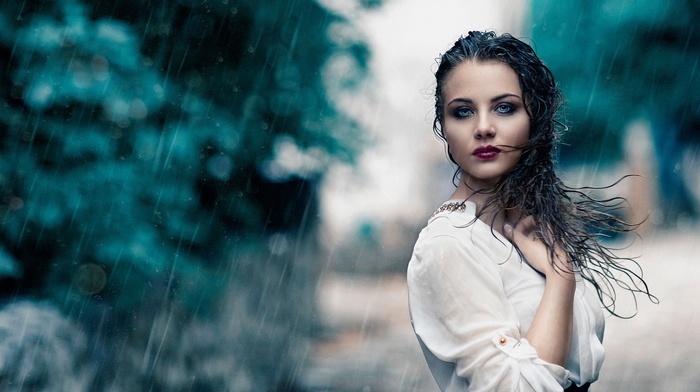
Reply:
[[435, 77], [433, 128], [459, 182], [408, 267], [430, 370], [443, 391], [585, 391], [604, 358], [602, 308], [614, 314], [610, 280], [649, 295], [598, 242], [597, 233], [634, 226], [609, 214], [617, 199], [590, 198], [556, 176], [562, 97], [529, 45], [471, 32]]

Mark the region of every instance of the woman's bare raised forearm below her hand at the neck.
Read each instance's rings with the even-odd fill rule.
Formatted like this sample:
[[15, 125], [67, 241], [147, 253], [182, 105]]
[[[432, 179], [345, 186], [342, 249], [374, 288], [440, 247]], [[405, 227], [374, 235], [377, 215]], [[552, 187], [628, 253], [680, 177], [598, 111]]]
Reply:
[[544, 361], [565, 366], [571, 349], [573, 330], [573, 274], [551, 271], [545, 282], [544, 294], [525, 338]]

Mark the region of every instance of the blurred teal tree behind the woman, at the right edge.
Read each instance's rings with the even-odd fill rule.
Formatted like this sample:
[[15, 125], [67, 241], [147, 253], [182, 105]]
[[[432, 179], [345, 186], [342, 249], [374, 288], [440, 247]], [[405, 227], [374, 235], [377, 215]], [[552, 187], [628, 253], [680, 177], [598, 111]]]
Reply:
[[625, 125], [649, 119], [664, 223], [698, 215], [682, 159], [700, 142], [699, 19], [693, 0], [532, 2], [533, 40], [573, 124], [562, 161], [615, 162]]

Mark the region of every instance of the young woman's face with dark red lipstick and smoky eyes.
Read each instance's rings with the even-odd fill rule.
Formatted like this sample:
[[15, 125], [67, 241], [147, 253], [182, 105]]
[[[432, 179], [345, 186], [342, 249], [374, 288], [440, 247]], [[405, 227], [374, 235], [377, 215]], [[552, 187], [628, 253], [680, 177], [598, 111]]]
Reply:
[[443, 132], [462, 182], [472, 189], [494, 185], [518, 162], [530, 137], [518, 77], [507, 64], [467, 60], [443, 87]]

